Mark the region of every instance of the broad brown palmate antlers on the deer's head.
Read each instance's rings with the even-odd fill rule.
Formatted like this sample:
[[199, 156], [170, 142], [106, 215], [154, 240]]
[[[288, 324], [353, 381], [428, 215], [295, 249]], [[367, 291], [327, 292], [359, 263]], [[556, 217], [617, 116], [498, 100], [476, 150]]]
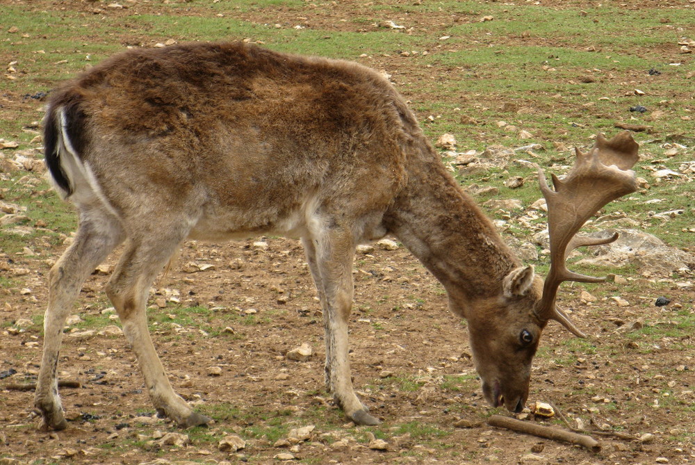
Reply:
[[556, 320], [575, 336], [586, 337], [573, 325], [566, 313], [555, 305], [558, 286], [564, 281], [603, 282], [605, 277], [571, 272], [567, 269], [565, 259], [572, 250], [582, 245], [607, 244], [618, 238], [617, 233], [610, 238], [600, 239], [575, 234], [601, 207], [637, 190], [635, 172], [630, 168], [639, 158], [638, 147], [628, 132], [620, 133], [610, 140], [598, 135], [596, 144], [588, 153], [575, 149], [575, 164], [562, 181], [555, 174], [552, 175], [555, 190], [548, 187], [543, 170], [538, 170], [541, 191], [548, 204], [550, 271], [543, 284], [543, 297], [535, 311], [541, 320]]

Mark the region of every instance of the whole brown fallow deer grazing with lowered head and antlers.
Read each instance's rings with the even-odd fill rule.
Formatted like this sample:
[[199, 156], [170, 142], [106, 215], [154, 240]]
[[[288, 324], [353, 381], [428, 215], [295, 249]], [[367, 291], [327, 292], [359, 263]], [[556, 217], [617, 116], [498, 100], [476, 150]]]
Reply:
[[147, 293], [187, 238], [301, 238], [322, 305], [325, 381], [360, 425], [377, 418], [350, 377], [347, 317], [354, 247], [392, 234], [432, 272], [468, 320], [475, 367], [493, 406], [520, 411], [543, 328], [563, 281], [596, 282], [564, 264], [574, 238], [636, 189], [627, 133], [576, 152], [548, 202], [551, 267], [543, 282], [448, 173], [414, 114], [380, 74], [357, 63], [280, 54], [251, 44], [133, 49], [55, 90], [44, 120], [46, 163], [74, 202], [74, 242], [49, 274], [35, 406], [60, 430], [56, 384], [65, 318], [92, 270], [126, 241], [106, 286], [154, 407], [181, 427], [208, 423], [174, 392], [147, 329]]

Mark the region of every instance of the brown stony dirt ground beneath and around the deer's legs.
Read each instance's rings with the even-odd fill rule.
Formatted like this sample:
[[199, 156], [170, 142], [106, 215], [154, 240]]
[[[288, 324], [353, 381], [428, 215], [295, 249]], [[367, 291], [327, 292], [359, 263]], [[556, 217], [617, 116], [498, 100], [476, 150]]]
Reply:
[[[95, 8], [79, 1], [43, 3], [46, 8], [67, 4], [77, 11]], [[592, 2], [585, 3], [591, 8]], [[365, 8], [363, 3], [336, 3], [330, 16], [308, 20], [324, 28], [348, 27], [350, 23], [339, 20], [360, 8]], [[243, 19], [281, 22], [282, 15], [283, 9], [277, 8], [272, 17], [259, 11], [245, 13]], [[293, 21], [296, 12], [287, 15]], [[418, 26], [441, 20], [441, 15], [420, 17]], [[389, 66], [407, 73], [399, 69], [407, 66], [402, 62]], [[208, 430], [191, 433], [192, 442], [185, 447], [151, 443], [156, 431], [181, 431], [165, 420], [134, 420], [138, 414], [154, 412], [124, 338], [98, 334], [103, 325], [97, 334], [72, 325], [59, 368], [61, 379], [81, 383], [79, 389], [61, 391], [70, 427], [55, 433], [37, 431], [33, 393], [2, 390], [0, 455], [28, 463], [138, 464], [155, 459], [272, 463], [288, 450], [275, 447], [275, 438], [257, 432], [278, 425], [317, 425], [309, 441], [290, 452], [295, 459], [314, 464], [512, 464], [532, 461], [527, 456], [535, 454], [544, 457], [539, 463], [695, 462], [692, 410], [688, 418], [672, 416], [667, 406], [662, 407], [669, 400], [664, 392], [679, 402], [695, 402], [694, 354], [682, 352], [684, 346], [692, 348], [692, 340], [664, 338], [646, 346], [625, 338], [615, 323], [641, 316], [669, 325], [669, 309], [645, 311], [607, 302], [589, 307], [580, 303], [581, 288], [566, 286], [563, 291], [561, 303], [574, 309], [575, 320], [591, 336], [586, 344], [568, 345], [571, 335], [550, 324], [541, 342], [543, 357], [534, 364], [530, 402], [554, 402], [564, 414], [582, 418], [591, 430], [652, 435], [642, 441], [599, 437], [601, 451], [590, 452], [482, 424], [490, 408], [475, 380], [465, 324], [448, 313], [443, 289], [407, 250], [380, 247], [357, 256], [350, 322], [354, 384], [373, 414], [384, 421], [381, 430], [389, 443], [388, 450], [368, 448], [367, 430], [343, 425], [347, 421], [323, 390], [320, 307], [300, 244], [262, 238], [266, 247], [256, 244], [258, 240], [186, 243], [177, 265], [158, 279], [152, 295], [149, 313], [156, 321], [152, 332], [158, 353], [175, 389], [218, 418]], [[1, 321], [8, 324], [0, 333], [0, 372], [16, 373], [1, 380], [0, 387], [31, 382], [38, 372], [40, 327], [19, 332], [13, 327], [17, 320], [42, 313], [47, 272], [63, 246], [51, 247], [40, 240], [29, 246], [34, 256], [2, 256], [9, 263], [4, 270], [28, 272], [19, 286], [3, 290], [1, 297]], [[117, 254], [111, 256], [104, 272], [95, 272], [85, 283], [75, 312], [83, 320], [108, 318], [103, 311], [110, 304], [103, 287], [116, 259]], [[608, 292], [619, 292], [616, 284], [605, 286]], [[658, 295], [647, 287], [623, 297], [642, 302]], [[694, 297], [692, 292], [678, 291], [677, 302], [692, 306]], [[187, 320], [176, 310], [182, 306], [208, 310]], [[302, 343], [313, 348], [313, 356], [308, 361], [286, 359], [286, 352]], [[611, 345], [612, 350], [596, 350], [602, 345]], [[210, 367], [221, 370], [212, 375]], [[398, 426], [389, 429], [402, 424], [410, 425], [410, 435]], [[430, 430], [418, 430], [423, 426]], [[227, 434], [243, 437], [246, 447], [238, 452], [219, 450], [218, 441]], [[5, 460], [0, 462], [13, 463]]]

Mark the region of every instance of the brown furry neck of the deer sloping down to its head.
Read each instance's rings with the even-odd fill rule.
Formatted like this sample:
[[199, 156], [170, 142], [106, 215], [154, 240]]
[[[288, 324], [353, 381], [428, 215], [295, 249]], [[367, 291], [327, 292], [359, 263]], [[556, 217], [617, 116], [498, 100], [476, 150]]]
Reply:
[[429, 156], [410, 163], [407, 186], [386, 215], [386, 226], [441, 282], [452, 310], [466, 316], [475, 302], [501, 295], [502, 279], [521, 263], [426, 148]]

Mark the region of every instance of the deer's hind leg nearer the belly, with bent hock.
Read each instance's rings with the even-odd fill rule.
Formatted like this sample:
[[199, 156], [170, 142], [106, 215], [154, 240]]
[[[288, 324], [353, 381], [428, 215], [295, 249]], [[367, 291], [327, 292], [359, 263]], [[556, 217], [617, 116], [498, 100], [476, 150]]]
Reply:
[[[181, 222], [183, 223], [183, 222]], [[172, 231], [162, 226], [162, 231]], [[133, 238], [108, 282], [106, 293], [123, 325], [126, 339], [133, 348], [145, 377], [145, 386], [159, 414], [171, 418], [180, 427], [204, 425], [211, 418], [195, 413], [167, 379], [147, 329], [147, 295], [172, 254], [177, 250], [183, 232], [167, 238], [158, 232], [147, 237]]]

